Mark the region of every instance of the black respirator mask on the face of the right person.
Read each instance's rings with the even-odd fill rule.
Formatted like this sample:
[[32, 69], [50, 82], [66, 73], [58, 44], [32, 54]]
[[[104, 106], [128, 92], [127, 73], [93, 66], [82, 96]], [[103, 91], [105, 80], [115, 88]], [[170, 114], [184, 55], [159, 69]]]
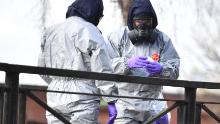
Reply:
[[128, 32], [128, 37], [133, 44], [147, 42], [153, 34], [153, 18], [134, 18], [134, 29]]

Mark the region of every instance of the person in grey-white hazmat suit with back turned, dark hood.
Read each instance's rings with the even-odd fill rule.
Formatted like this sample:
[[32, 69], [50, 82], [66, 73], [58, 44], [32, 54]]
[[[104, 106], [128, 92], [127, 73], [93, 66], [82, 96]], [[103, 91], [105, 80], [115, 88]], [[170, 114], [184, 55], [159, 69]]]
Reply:
[[[76, 0], [68, 7], [66, 20], [48, 28], [43, 37], [39, 66], [112, 73], [106, 44], [97, 28], [103, 17], [102, 0]], [[115, 83], [79, 78], [42, 76], [48, 90], [113, 95]], [[114, 98], [105, 97], [106, 102]], [[100, 97], [47, 93], [47, 104], [72, 124], [97, 124]], [[62, 122], [46, 113], [48, 124]]]

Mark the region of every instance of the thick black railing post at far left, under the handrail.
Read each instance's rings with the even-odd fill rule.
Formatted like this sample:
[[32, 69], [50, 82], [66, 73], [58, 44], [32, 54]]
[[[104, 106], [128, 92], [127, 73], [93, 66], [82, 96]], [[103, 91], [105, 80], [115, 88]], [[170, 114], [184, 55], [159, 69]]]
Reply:
[[19, 73], [6, 72], [5, 83], [8, 90], [4, 96], [3, 124], [17, 124]]

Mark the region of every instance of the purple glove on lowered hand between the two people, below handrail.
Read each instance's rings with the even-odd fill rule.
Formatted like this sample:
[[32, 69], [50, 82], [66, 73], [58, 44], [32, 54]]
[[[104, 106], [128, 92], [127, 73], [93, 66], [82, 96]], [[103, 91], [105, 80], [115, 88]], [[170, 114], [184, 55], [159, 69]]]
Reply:
[[113, 124], [115, 118], [117, 117], [117, 109], [115, 107], [115, 103], [108, 103], [108, 113], [109, 119], [107, 124]]

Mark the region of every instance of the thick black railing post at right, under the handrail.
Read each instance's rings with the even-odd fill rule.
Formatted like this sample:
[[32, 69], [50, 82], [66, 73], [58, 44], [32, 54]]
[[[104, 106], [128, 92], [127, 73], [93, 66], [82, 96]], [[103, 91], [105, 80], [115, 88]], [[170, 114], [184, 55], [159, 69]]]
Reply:
[[196, 88], [185, 88], [185, 100], [186, 105], [186, 124], [195, 124], [195, 113], [196, 113]]

